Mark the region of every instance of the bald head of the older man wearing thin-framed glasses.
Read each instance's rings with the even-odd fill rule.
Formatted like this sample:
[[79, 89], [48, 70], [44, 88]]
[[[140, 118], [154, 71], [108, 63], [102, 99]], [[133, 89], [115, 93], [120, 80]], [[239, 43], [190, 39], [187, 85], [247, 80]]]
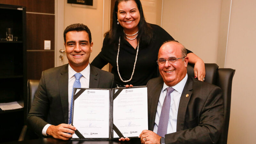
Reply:
[[[159, 59], [166, 60], [164, 64], [160, 64], [158, 67], [166, 85], [174, 86], [186, 76], [188, 65], [187, 50], [179, 42], [169, 41], [164, 43], [158, 52]], [[171, 62], [167, 59], [176, 60]]]

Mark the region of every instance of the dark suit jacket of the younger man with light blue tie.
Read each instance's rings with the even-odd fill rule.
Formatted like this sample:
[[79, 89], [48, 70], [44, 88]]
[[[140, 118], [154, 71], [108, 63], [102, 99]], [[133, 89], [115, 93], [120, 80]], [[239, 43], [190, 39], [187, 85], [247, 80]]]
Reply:
[[[89, 88], [114, 87], [113, 74], [90, 65]], [[68, 124], [68, 64], [42, 72], [27, 120], [39, 136], [46, 124]]]

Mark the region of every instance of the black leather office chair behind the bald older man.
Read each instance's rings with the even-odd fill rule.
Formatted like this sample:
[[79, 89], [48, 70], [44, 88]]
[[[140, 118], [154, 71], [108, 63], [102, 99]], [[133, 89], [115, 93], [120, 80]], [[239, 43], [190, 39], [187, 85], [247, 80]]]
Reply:
[[[188, 76], [194, 77], [194, 66], [188, 65]], [[227, 144], [230, 117], [231, 88], [235, 69], [219, 68], [215, 63], [205, 63], [205, 82], [219, 86], [223, 92], [224, 126], [218, 144]]]

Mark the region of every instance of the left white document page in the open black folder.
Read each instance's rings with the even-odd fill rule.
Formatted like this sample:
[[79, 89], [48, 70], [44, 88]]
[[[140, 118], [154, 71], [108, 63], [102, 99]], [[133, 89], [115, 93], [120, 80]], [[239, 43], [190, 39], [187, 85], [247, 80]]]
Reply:
[[74, 101], [73, 125], [84, 138], [109, 138], [109, 90], [85, 90]]

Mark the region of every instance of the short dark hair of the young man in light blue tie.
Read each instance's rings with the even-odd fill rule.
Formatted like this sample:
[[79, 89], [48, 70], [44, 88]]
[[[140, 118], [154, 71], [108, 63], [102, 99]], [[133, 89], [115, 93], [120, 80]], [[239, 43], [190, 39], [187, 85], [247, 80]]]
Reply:
[[64, 30], [64, 33], [63, 33], [63, 36], [64, 36], [64, 42], [66, 44], [66, 34], [69, 32], [69, 31], [86, 31], [89, 35], [89, 42], [91, 44], [92, 42], [92, 34], [91, 34], [91, 31], [90, 29], [82, 24], [82, 23], [75, 23], [75, 24], [72, 24], [72, 25], [69, 25], [65, 30]]

